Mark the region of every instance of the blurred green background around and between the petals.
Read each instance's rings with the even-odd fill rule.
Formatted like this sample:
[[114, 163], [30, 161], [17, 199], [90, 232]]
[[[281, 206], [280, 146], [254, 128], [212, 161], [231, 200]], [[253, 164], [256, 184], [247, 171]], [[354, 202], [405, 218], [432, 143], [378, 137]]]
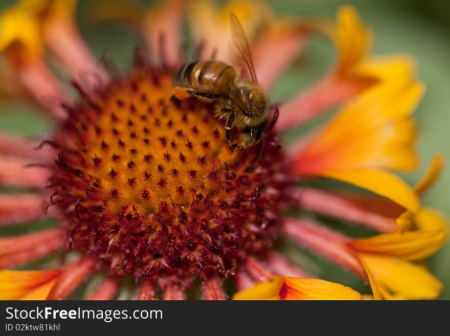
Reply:
[[[124, 0], [125, 1], [125, 0]], [[94, 2], [93, 0], [91, 2]], [[14, 3], [2, 0], [0, 9]], [[86, 5], [80, 1], [78, 21], [83, 36], [96, 56], [104, 53], [112, 58], [120, 69], [130, 63], [133, 47], [139, 38], [132, 30], [117, 25], [94, 25], [86, 17]], [[146, 3], [149, 3], [146, 2]], [[433, 154], [441, 152], [450, 161], [450, 2], [410, 0], [277, 0], [269, 1], [280, 15], [321, 15], [333, 18], [336, 9], [343, 4], [353, 5], [375, 35], [374, 53], [408, 53], [419, 64], [418, 77], [426, 86], [415, 117], [420, 128], [418, 151], [421, 167], [414, 173], [402, 174], [406, 181], [414, 184], [431, 162]], [[314, 40], [305, 53], [292, 65], [291, 71], [274, 87], [271, 97], [283, 100], [294, 95], [325, 74], [332, 66], [334, 50], [325, 40]], [[15, 131], [22, 135], [33, 135], [51, 129], [51, 121], [24, 104], [2, 104], [0, 129]], [[450, 169], [445, 169], [435, 187], [423, 197], [423, 204], [433, 206], [450, 217], [450, 203], [447, 192], [450, 187]], [[13, 234], [15, 229], [0, 231]], [[289, 247], [287, 247], [289, 248]], [[305, 256], [306, 258], [306, 256]], [[314, 260], [314, 257], [307, 256]], [[429, 267], [446, 286], [441, 299], [450, 299], [450, 244], [447, 243], [428, 262]], [[325, 267], [325, 270], [323, 270]], [[325, 278], [343, 281], [355, 289], [363, 287], [357, 280], [336, 270], [328, 264], [321, 264]], [[342, 280], [344, 279], [344, 280]]]

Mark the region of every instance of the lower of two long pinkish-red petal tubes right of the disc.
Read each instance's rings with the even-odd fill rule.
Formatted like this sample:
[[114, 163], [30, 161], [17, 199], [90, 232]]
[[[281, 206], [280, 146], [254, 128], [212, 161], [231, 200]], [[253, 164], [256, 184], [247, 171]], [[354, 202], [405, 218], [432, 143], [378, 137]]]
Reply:
[[317, 223], [285, 218], [281, 231], [305, 248], [322, 255], [366, 279], [358, 259], [346, 247], [350, 239]]

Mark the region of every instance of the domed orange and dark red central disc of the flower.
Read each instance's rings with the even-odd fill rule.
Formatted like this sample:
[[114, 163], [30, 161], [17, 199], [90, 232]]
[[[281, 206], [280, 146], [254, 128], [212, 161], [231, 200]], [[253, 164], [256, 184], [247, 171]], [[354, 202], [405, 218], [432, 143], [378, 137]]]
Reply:
[[271, 247], [290, 181], [274, 134], [233, 150], [213, 104], [171, 97], [172, 76], [136, 66], [67, 108], [51, 205], [111, 274], [187, 286]]

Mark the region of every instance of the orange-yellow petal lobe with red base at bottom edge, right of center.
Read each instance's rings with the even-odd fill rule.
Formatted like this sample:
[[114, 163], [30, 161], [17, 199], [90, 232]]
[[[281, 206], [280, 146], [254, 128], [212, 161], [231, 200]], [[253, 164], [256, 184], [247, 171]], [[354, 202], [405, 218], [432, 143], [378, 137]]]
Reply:
[[320, 279], [284, 278], [282, 300], [361, 300], [361, 294], [340, 283]]

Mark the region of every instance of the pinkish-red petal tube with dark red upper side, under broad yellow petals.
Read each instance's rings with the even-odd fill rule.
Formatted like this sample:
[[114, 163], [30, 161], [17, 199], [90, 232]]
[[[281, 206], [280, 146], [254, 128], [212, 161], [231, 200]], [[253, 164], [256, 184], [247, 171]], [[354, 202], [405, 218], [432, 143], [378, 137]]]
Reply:
[[381, 232], [398, 229], [395, 219], [404, 209], [394, 202], [372, 195], [327, 192], [302, 188], [294, 192], [302, 209], [348, 220]]

